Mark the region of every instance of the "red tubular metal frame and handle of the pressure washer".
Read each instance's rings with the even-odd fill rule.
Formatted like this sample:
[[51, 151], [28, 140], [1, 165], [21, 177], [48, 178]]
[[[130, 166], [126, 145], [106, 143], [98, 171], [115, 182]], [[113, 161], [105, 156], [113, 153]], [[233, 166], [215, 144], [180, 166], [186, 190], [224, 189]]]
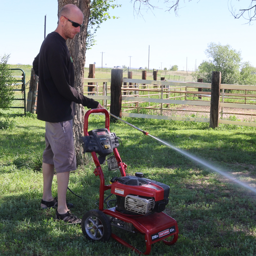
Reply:
[[[91, 113], [104, 113], [105, 114], [105, 128], [108, 129], [108, 131], [109, 131], [109, 121], [110, 121], [110, 118], [109, 118], [108, 111], [106, 109], [91, 109], [91, 110], [88, 110], [86, 112], [86, 114], [84, 115], [84, 125], [83, 125], [84, 136], [88, 136], [89, 135], [88, 134], [88, 118], [89, 118], [89, 115]], [[115, 155], [116, 161], [118, 162], [118, 166], [119, 166], [121, 175], [125, 176], [125, 170], [126, 170], [127, 165], [122, 162], [122, 160], [120, 158], [120, 155], [119, 155], [119, 153], [117, 151], [117, 148], [113, 149], [113, 153]], [[91, 152], [91, 154], [92, 154], [92, 158], [93, 158], [93, 161], [95, 163], [95, 166], [96, 166], [96, 168], [94, 169], [93, 173], [95, 174], [95, 176], [99, 176], [99, 178], [100, 178], [99, 210], [103, 211], [105, 214], [110, 215], [112, 217], [121, 219], [121, 220], [126, 221], [126, 222], [131, 222], [138, 232], [140, 232], [140, 233], [145, 235], [146, 251], [144, 253], [142, 253], [141, 251], [139, 251], [138, 249], [133, 247], [131, 244], [127, 243], [126, 241], [124, 241], [123, 239], [121, 239], [120, 237], [116, 236], [113, 233], [111, 234], [111, 237], [114, 238], [116, 241], [120, 242], [121, 244], [123, 244], [124, 246], [132, 249], [133, 251], [135, 251], [138, 254], [144, 254], [144, 255], [149, 254], [150, 251], [151, 251], [151, 244], [154, 243], [154, 242], [157, 242], [158, 240], [154, 241], [154, 242], [151, 241], [151, 234], [142, 225], [143, 223], [141, 224], [139, 221], [136, 220], [136, 218], [131, 218], [130, 216], [126, 216], [124, 214], [121, 214], [120, 212], [116, 212], [113, 208], [111, 208], [111, 209], [104, 209], [104, 191], [108, 190], [108, 189], [111, 189], [111, 185], [105, 185], [104, 174], [103, 174], [102, 168], [100, 166], [99, 159], [98, 159], [98, 157], [97, 157], [95, 152]], [[159, 214], [160, 214], [161, 217], [163, 215], [163, 219], [164, 219], [165, 216], [168, 216], [168, 215], [164, 214], [163, 212], [161, 212]], [[166, 241], [166, 240], [163, 240], [163, 239], [159, 239], [159, 241], [163, 240], [163, 242], [165, 244], [171, 245], [171, 244], [174, 244], [177, 241], [177, 239], [178, 239], [178, 226], [177, 226], [177, 222], [173, 218], [168, 216], [168, 219], [169, 219], [168, 221], [170, 221], [170, 223], [173, 223], [172, 225], [176, 226], [176, 230], [177, 231], [176, 231], [176, 233], [173, 234], [173, 240], [172, 241]]]

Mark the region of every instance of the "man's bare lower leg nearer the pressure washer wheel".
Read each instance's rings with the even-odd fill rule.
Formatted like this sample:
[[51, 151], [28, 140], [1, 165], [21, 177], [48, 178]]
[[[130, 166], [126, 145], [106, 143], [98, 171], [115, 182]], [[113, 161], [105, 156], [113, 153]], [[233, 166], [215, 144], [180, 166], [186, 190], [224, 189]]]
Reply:
[[69, 172], [57, 173], [58, 182], [58, 213], [65, 214], [68, 211], [66, 195], [68, 189]]

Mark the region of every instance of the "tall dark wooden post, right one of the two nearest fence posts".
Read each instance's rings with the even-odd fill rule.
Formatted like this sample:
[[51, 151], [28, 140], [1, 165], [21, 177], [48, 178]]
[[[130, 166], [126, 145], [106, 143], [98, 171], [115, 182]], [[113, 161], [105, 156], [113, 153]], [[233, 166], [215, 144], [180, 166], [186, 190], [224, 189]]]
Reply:
[[221, 81], [221, 72], [212, 71], [210, 128], [213, 128], [213, 129], [215, 129], [219, 125], [220, 81]]

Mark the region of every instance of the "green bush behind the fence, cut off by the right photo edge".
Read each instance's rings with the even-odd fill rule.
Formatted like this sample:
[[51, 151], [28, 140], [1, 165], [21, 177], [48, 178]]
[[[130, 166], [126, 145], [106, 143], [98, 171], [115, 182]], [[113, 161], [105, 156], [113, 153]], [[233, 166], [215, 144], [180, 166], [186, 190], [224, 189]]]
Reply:
[[248, 61], [241, 65], [239, 84], [256, 85], [256, 68]]

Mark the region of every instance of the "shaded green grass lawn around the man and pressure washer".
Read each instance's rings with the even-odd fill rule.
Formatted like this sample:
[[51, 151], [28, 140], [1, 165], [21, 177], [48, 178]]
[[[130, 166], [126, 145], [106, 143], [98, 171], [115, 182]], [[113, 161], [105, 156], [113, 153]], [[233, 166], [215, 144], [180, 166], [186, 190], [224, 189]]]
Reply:
[[[89, 242], [79, 225], [63, 225], [54, 219], [55, 209], [40, 209], [44, 122], [35, 115], [14, 120], [13, 130], [0, 131], [0, 255], [136, 255], [112, 238]], [[212, 130], [207, 123], [125, 120], [254, 186], [255, 128], [220, 125]], [[103, 125], [103, 116], [90, 116], [90, 130]], [[126, 174], [140, 171], [170, 186], [165, 212], [177, 220], [179, 238], [173, 246], [153, 244], [151, 255], [256, 254], [256, 195], [124, 123], [111, 124], [110, 131], [123, 142], [118, 150], [128, 165]], [[83, 199], [67, 193], [79, 217], [97, 209], [99, 200], [99, 178], [93, 174], [90, 155], [85, 158], [86, 165], [72, 172], [69, 181], [70, 189]], [[119, 175], [109, 172], [106, 164], [102, 168], [106, 184]], [[57, 196], [56, 176], [52, 188]], [[112, 230], [145, 250], [142, 235]]]

